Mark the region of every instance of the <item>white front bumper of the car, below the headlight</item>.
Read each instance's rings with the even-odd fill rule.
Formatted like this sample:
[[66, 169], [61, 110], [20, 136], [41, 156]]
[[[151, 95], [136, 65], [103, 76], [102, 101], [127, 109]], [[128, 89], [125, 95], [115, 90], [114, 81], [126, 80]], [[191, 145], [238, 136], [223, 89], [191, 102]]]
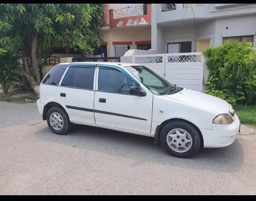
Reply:
[[219, 148], [231, 145], [240, 131], [240, 120], [235, 114], [229, 125], [213, 124], [213, 129], [201, 129], [205, 148]]

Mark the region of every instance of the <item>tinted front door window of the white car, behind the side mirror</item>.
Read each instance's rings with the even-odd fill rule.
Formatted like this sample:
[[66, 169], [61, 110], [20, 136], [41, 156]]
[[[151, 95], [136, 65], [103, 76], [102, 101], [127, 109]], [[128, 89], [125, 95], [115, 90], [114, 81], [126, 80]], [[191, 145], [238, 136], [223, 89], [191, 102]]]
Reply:
[[136, 83], [120, 71], [112, 69], [99, 69], [99, 90], [129, 94], [131, 86]]

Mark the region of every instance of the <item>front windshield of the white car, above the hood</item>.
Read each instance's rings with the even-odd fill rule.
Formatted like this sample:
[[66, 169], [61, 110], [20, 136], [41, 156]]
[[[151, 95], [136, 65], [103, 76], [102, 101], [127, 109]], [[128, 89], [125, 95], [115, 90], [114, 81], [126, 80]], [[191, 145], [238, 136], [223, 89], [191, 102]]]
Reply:
[[173, 85], [145, 66], [125, 66], [138, 80], [140, 80], [152, 93], [166, 95], [178, 92], [177, 85]]

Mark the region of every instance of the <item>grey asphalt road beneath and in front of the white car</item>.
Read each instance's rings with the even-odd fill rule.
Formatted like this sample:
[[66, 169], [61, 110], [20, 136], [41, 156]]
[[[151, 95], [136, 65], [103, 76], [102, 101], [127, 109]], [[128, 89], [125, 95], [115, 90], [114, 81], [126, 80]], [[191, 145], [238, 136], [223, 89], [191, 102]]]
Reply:
[[76, 126], [53, 134], [35, 103], [0, 102], [0, 194], [252, 194], [256, 135], [189, 159], [154, 139]]

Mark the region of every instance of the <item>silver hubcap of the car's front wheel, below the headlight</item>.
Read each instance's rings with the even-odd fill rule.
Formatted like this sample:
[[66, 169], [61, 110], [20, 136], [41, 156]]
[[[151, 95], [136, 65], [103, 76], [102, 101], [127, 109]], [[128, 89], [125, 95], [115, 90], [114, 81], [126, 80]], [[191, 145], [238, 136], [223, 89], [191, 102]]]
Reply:
[[168, 133], [166, 140], [169, 147], [178, 153], [184, 153], [192, 146], [191, 135], [188, 131], [181, 128], [172, 129]]

